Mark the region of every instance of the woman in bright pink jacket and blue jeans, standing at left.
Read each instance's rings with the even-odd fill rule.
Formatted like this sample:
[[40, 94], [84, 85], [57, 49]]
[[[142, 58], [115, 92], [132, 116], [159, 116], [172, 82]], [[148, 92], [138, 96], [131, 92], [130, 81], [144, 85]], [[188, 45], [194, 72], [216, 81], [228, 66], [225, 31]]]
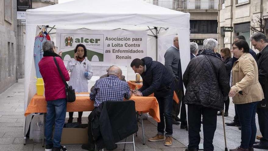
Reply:
[[[38, 63], [40, 73], [44, 80], [45, 98], [47, 100], [47, 115], [44, 131], [46, 137], [45, 151], [67, 150], [60, 144], [66, 116], [65, 84], [62, 81], [53, 57], [56, 58], [65, 81], [69, 81], [70, 77], [61, 57], [55, 53], [57, 52], [57, 48], [53, 41], [45, 41], [43, 43], [44, 57]], [[52, 140], [53, 125], [55, 125], [55, 133]]]

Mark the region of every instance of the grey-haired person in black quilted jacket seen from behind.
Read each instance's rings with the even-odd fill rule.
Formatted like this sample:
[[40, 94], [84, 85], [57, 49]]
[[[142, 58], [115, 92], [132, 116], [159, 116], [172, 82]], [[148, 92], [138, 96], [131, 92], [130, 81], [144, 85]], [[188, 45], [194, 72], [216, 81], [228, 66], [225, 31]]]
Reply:
[[223, 96], [227, 97], [230, 89], [224, 63], [215, 53], [217, 45], [215, 39], [205, 39], [203, 51], [190, 61], [183, 74], [186, 88], [184, 102], [188, 105], [188, 151], [198, 150], [201, 114], [204, 150], [214, 149], [212, 143], [217, 127], [217, 111], [223, 109]]

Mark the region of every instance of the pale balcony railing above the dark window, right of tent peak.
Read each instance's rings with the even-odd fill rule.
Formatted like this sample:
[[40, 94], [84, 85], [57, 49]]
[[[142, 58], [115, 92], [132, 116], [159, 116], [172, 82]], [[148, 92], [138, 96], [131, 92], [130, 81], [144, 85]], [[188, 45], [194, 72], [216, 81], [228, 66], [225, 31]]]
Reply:
[[183, 9], [218, 9], [219, 2], [183, 2]]

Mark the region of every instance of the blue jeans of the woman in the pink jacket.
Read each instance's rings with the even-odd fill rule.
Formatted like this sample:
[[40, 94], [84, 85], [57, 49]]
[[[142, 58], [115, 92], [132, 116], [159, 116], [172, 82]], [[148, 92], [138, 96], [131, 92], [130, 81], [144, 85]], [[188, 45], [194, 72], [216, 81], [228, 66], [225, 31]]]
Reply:
[[[53, 147], [61, 147], [62, 128], [66, 116], [66, 99], [57, 99], [47, 101], [47, 116], [45, 123], [46, 145], [53, 144]], [[53, 125], [55, 124], [55, 132], [52, 140]]]

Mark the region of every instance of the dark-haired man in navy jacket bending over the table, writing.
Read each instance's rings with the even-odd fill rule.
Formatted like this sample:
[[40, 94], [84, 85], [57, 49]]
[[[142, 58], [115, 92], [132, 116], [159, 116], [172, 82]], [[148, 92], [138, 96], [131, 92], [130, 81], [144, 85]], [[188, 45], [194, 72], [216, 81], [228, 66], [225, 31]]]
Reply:
[[[171, 111], [175, 87], [174, 78], [162, 63], [153, 61], [151, 57], [145, 57], [143, 59], [136, 58], [130, 66], [143, 79], [143, 86], [135, 92], [135, 95], [148, 96], [154, 93], [159, 104], [160, 122], [157, 123], [158, 132], [156, 136], [149, 138], [149, 141], [165, 140], [164, 145], [171, 146], [173, 133]], [[166, 139], [164, 139], [165, 127]]]

